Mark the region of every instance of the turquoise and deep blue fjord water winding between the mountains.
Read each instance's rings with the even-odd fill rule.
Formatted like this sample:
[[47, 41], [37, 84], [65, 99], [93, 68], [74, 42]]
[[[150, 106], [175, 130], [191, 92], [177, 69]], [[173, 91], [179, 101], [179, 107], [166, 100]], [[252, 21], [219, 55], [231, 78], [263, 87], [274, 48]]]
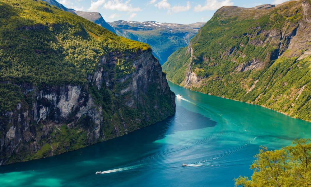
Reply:
[[251, 175], [259, 145], [311, 137], [310, 122], [169, 85], [183, 95], [173, 117], [77, 151], [0, 166], [0, 186], [234, 186], [235, 177]]

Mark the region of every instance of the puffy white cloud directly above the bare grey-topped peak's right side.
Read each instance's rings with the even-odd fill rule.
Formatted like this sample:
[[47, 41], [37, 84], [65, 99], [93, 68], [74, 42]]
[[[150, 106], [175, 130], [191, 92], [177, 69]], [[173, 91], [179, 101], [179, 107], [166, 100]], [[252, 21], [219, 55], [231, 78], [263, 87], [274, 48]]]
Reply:
[[132, 7], [130, 1], [123, 2], [122, 0], [111, 0], [104, 3], [104, 8], [108, 10], [118, 10], [122, 12], [137, 12], [142, 11], [139, 7]]

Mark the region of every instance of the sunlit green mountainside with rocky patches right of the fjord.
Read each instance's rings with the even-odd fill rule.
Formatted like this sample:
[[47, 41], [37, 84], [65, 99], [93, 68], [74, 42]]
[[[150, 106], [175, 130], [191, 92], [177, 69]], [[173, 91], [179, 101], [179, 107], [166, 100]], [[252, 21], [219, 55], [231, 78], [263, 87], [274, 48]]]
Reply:
[[162, 68], [185, 88], [311, 121], [310, 55], [309, 0], [225, 6]]

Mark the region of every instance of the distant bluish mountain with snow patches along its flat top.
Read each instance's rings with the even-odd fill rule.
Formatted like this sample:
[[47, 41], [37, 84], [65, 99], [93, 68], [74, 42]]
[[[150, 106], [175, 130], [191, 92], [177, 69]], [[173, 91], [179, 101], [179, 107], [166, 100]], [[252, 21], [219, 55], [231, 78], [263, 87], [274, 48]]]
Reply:
[[118, 36], [151, 46], [153, 54], [163, 64], [175, 50], [187, 46], [204, 23], [189, 25], [176, 23], [115, 21], [109, 23]]

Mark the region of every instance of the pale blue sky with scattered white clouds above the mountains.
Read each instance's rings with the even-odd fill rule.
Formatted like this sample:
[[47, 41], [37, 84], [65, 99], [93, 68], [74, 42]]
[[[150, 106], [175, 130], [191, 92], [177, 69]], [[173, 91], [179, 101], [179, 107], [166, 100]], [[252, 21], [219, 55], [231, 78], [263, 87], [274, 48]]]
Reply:
[[57, 0], [67, 8], [100, 12], [106, 22], [156, 21], [190, 24], [207, 22], [222, 6], [255, 7], [285, 0]]

